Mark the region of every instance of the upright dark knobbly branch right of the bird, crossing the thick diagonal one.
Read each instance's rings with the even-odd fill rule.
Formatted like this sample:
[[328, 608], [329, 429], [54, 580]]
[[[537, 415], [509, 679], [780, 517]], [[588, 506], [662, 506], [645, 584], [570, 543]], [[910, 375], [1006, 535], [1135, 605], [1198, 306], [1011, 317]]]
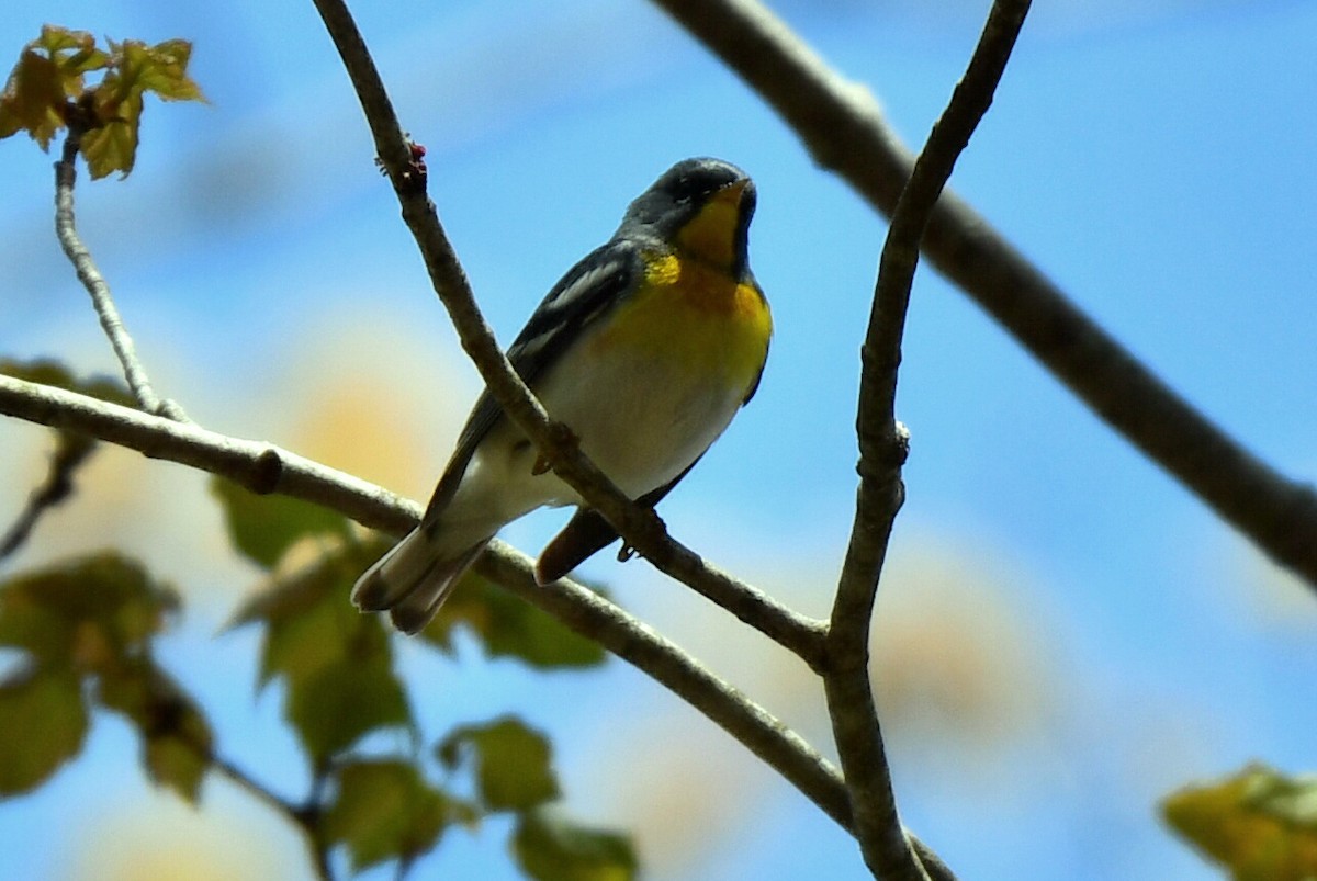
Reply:
[[869, 682], [873, 602], [892, 524], [905, 498], [901, 466], [909, 436], [896, 417], [901, 340], [919, 262], [919, 240], [956, 158], [992, 104], [1029, 5], [1030, 0], [993, 4], [965, 75], [914, 163], [882, 245], [873, 309], [861, 348], [864, 366], [856, 419], [860, 487], [855, 525], [832, 606], [830, 665], [823, 685], [860, 848], [869, 869], [880, 878], [917, 881], [927, 877], [897, 815]]

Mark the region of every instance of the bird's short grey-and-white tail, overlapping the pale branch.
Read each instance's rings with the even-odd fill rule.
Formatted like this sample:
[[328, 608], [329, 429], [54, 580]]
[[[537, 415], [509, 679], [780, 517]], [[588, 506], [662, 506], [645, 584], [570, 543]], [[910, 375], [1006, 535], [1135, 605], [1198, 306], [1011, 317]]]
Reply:
[[453, 548], [436, 531], [414, 529], [357, 579], [352, 602], [363, 612], [389, 611], [394, 627], [416, 633], [435, 618], [493, 535], [468, 547]]

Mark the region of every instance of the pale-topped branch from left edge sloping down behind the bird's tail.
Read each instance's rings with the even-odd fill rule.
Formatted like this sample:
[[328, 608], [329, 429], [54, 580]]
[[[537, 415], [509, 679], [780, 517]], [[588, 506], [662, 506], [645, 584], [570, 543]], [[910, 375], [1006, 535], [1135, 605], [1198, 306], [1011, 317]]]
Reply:
[[[323, 504], [394, 535], [414, 528], [421, 512], [414, 502], [270, 444], [227, 437], [51, 386], [0, 375], [0, 414], [83, 432], [151, 458], [227, 477], [257, 493], [281, 493]], [[849, 828], [849, 806], [836, 770], [798, 735], [673, 643], [568, 579], [533, 586], [527, 558], [500, 541], [490, 547], [477, 569], [499, 583], [506, 577], [511, 590], [670, 689]]]

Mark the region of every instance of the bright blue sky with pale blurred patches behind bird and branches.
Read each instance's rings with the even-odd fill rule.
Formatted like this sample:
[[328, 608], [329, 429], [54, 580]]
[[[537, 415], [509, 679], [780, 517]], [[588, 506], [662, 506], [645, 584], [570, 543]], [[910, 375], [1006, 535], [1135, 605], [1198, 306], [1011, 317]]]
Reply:
[[[952, 186], [1172, 386], [1285, 473], [1310, 477], [1317, 8], [1036, 5]], [[926, 7], [777, 8], [918, 142], [986, 11]], [[0, 49], [13, 55], [42, 21], [196, 43], [194, 72], [211, 105], [149, 107], [133, 176], [79, 190], [83, 233], [163, 394], [220, 431], [270, 437], [423, 496], [475, 392], [474, 371], [371, 167], [311, 4], [18, 3], [0, 21]], [[375, 4], [361, 24], [404, 125], [429, 150], [432, 195], [504, 340], [673, 161], [712, 154], [752, 174], [752, 265], [777, 336], [755, 402], [665, 514], [714, 560], [822, 614], [849, 525], [859, 333], [881, 220], [648, 5]], [[49, 169], [28, 144], [0, 145], [0, 353], [109, 369], [50, 234]], [[362, 415], [375, 417], [363, 440], [315, 431], [358, 400], [385, 408]], [[1217, 877], [1164, 834], [1154, 802], [1252, 757], [1312, 769], [1312, 595], [926, 270], [898, 411], [913, 435], [909, 502], [881, 601], [897, 623], [889, 632], [880, 618], [878, 639], [889, 636], [876, 653], [914, 652], [893, 649], [896, 669], [880, 676], [914, 695], [893, 726], [909, 824], [964, 877], [1019, 877], [1026, 861], [1079, 880]], [[381, 416], [390, 412], [396, 429]], [[5, 519], [41, 441], [0, 425], [0, 445], [14, 450], [0, 474], [18, 487], [0, 494]], [[107, 458], [94, 483], [107, 487], [101, 507], [88, 490], [83, 514], [53, 519], [9, 565], [107, 541], [157, 554], [196, 601], [171, 660], [217, 707], [223, 743], [296, 791], [295, 753], [270, 734], [277, 695], [250, 698], [250, 637], [211, 639], [234, 587], [255, 574], [224, 556], [191, 475]], [[116, 467], [159, 483], [125, 487]], [[162, 487], [195, 499], [153, 518]], [[130, 523], [108, 523], [119, 503]], [[507, 537], [533, 550], [557, 523], [531, 518]], [[813, 698], [793, 690], [798, 672], [736, 641], [736, 623], [718, 610], [643, 562], [590, 572], [735, 681], [766, 690], [806, 734], [826, 734]], [[510, 708], [552, 731], [569, 805], [633, 823], [652, 877], [864, 877], [828, 820], [620, 664], [528, 677], [474, 652], [452, 665], [411, 649], [403, 664], [417, 682], [437, 682], [433, 699], [420, 698], [436, 731], [449, 712]], [[967, 708], [982, 695], [992, 699]], [[47, 790], [0, 805], [0, 876], [111, 877], [78, 863], [79, 844], [120, 805], [169, 810], [144, 801], [134, 762], [132, 740], [109, 723]], [[714, 799], [706, 778], [743, 798]], [[628, 780], [648, 782], [640, 791]], [[677, 815], [701, 815], [705, 801], [726, 816], [684, 832]], [[207, 805], [219, 828], [238, 830], [230, 835], [271, 826], [223, 786], [208, 789]], [[59, 844], [34, 848], [37, 834]], [[286, 860], [278, 865], [295, 865], [286, 840], [270, 848]], [[436, 869], [510, 877], [497, 828], [454, 836]]]

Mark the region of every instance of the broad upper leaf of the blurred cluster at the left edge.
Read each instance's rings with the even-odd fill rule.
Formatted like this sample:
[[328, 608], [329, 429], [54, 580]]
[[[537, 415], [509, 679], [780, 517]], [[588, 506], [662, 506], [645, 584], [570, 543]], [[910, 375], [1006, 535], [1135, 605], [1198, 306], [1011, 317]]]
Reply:
[[97, 672], [146, 649], [178, 595], [107, 550], [12, 578], [0, 590], [0, 645], [43, 664]]

